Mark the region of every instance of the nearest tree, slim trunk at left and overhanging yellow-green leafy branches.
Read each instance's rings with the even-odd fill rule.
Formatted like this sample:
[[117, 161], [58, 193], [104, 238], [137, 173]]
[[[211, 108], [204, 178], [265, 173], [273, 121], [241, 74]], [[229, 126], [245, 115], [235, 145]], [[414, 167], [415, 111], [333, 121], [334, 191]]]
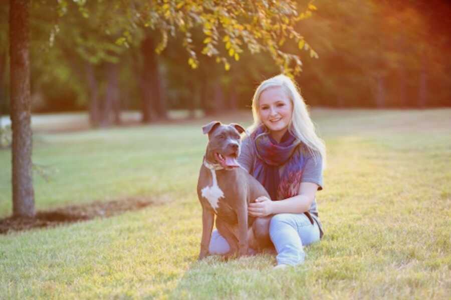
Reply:
[[[89, 17], [86, 1], [74, 1], [83, 15]], [[308, 5], [306, 12], [298, 13], [294, 1], [267, 0], [164, 0], [137, 1], [117, 0], [97, 5], [110, 5], [111, 11], [125, 16], [123, 36], [118, 44], [128, 46], [132, 34], [141, 26], [160, 31], [161, 40], [155, 51], [160, 53], [167, 45], [168, 36], [182, 36], [182, 45], [189, 54], [188, 64], [196, 68], [199, 60], [192, 40], [192, 31], [201, 28], [203, 38], [202, 54], [216, 57], [226, 70], [230, 69], [230, 59], [239, 60], [243, 48], [251, 53], [268, 51], [281, 70], [288, 74], [301, 70], [301, 59], [296, 54], [283, 51], [281, 45], [286, 39], [295, 40], [299, 48], [309, 49], [304, 37], [295, 29], [299, 20], [312, 14], [316, 7]], [[67, 13], [68, 1], [58, 1], [61, 15]], [[32, 183], [32, 131], [30, 100], [30, 19], [29, 0], [10, 1], [10, 56], [11, 56], [11, 102], [13, 125], [13, 214], [33, 216], [35, 213]], [[122, 18], [121, 18], [122, 19]], [[115, 18], [106, 23], [114, 23]], [[87, 33], [88, 34], [88, 33]]]

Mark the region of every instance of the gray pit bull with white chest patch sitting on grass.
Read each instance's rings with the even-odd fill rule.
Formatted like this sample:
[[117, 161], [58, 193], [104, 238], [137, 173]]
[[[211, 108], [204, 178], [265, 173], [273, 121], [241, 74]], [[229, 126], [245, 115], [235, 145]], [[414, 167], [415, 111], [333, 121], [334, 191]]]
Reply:
[[212, 121], [202, 130], [208, 134], [208, 144], [197, 182], [197, 195], [202, 205], [202, 240], [198, 258], [208, 254], [214, 215], [217, 230], [230, 245], [225, 256], [247, 255], [249, 246], [258, 248], [252, 232], [255, 217], [248, 215], [248, 204], [260, 196], [270, 196], [237, 161], [240, 133], [246, 131], [241, 125]]

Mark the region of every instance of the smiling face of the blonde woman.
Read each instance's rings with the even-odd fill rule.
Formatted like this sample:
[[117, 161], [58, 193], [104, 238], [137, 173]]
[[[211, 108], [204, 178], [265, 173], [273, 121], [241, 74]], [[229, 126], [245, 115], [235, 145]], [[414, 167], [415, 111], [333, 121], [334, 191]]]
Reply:
[[270, 87], [260, 94], [259, 113], [271, 135], [280, 141], [290, 124], [293, 103], [282, 87]]

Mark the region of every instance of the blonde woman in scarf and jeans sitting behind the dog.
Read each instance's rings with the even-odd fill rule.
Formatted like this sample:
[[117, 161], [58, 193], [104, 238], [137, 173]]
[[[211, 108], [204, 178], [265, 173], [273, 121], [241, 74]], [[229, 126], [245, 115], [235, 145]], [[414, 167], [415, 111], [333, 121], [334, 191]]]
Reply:
[[[324, 142], [315, 133], [307, 107], [294, 82], [285, 75], [263, 81], [252, 100], [254, 124], [243, 140], [240, 164], [256, 177], [271, 196], [249, 204], [256, 216], [253, 230], [260, 245], [277, 250], [276, 267], [304, 261], [303, 245], [323, 235], [315, 200], [322, 189]], [[210, 253], [229, 250], [213, 231]]]

